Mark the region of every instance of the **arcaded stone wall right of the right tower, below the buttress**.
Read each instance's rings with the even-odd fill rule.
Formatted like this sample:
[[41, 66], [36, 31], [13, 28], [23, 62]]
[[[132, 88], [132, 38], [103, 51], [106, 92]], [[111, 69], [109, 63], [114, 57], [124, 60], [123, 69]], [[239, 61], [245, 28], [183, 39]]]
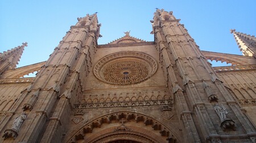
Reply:
[[218, 77], [232, 94], [247, 116], [256, 127], [256, 72], [255, 71], [228, 71], [218, 72]]

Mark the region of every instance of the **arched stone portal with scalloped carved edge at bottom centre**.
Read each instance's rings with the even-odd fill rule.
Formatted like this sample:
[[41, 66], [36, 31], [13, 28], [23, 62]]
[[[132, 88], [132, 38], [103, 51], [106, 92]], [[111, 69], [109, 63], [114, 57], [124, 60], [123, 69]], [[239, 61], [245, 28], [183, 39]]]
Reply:
[[115, 112], [88, 122], [66, 140], [69, 143], [180, 142], [176, 133], [158, 120], [134, 112]]

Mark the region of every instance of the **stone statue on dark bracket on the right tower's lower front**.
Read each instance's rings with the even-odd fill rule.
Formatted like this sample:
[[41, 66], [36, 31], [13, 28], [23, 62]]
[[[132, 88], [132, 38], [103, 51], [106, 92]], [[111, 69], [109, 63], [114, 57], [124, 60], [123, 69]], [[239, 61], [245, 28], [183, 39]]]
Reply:
[[226, 129], [231, 128], [233, 131], [236, 131], [236, 124], [232, 119], [228, 116], [228, 110], [226, 110], [226, 107], [224, 105], [221, 105], [222, 107], [218, 106], [217, 103], [214, 105], [214, 110], [216, 111], [217, 115], [219, 116], [221, 120], [221, 128], [223, 131], [226, 131]]

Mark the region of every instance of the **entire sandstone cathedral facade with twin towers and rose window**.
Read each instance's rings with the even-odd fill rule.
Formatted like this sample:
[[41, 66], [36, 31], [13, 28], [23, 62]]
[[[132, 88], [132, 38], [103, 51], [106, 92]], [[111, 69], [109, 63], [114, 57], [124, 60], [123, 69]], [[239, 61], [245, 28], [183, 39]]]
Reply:
[[46, 62], [15, 68], [27, 43], [0, 54], [0, 142], [256, 142], [254, 36], [231, 30], [243, 55], [201, 51], [158, 9], [154, 41], [98, 45], [97, 15], [77, 20]]

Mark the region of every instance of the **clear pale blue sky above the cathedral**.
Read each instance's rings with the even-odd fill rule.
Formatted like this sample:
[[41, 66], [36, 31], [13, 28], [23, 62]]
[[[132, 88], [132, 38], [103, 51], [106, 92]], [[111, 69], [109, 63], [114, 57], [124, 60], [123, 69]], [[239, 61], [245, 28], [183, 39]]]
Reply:
[[[256, 1], [0, 1], [0, 52], [28, 42], [18, 67], [43, 62], [78, 17], [98, 12], [102, 24], [98, 44], [124, 36], [146, 41], [155, 8], [173, 11], [201, 50], [241, 54], [232, 28], [256, 34]], [[214, 66], [218, 66], [215, 64]]]

